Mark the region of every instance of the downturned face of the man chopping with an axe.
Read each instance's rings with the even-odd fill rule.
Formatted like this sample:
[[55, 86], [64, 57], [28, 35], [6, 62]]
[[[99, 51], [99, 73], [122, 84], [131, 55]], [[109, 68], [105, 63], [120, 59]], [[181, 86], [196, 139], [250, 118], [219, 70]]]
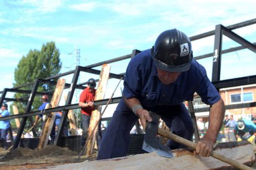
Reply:
[[156, 68], [158, 72], [158, 78], [160, 79], [161, 83], [163, 84], [171, 84], [181, 75], [180, 72], [168, 72], [161, 70], [159, 68]]

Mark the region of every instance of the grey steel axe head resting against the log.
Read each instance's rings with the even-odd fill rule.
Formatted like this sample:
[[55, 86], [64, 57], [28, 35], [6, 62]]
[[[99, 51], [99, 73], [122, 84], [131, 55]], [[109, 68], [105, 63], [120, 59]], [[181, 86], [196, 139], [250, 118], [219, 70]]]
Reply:
[[152, 111], [149, 113], [153, 121], [147, 123], [142, 149], [147, 152], [156, 152], [159, 156], [173, 158], [171, 149], [161, 144], [160, 140], [156, 137], [160, 115]]

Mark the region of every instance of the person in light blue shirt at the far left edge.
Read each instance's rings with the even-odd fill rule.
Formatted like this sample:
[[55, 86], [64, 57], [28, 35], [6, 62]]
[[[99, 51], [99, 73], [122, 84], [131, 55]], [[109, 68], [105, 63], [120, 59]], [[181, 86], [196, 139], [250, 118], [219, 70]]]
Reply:
[[[1, 111], [2, 112], [0, 113], [0, 118], [10, 115], [8, 111], [8, 105], [6, 103], [2, 103]], [[1, 140], [2, 147], [4, 147], [5, 149], [7, 148], [7, 132], [10, 127], [11, 127], [10, 120], [0, 121], [0, 140]]]

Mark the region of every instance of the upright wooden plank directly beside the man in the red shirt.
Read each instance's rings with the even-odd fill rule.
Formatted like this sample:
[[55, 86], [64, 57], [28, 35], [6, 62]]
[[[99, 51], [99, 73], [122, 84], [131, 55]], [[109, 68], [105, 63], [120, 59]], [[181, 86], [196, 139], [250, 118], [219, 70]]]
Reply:
[[[105, 96], [105, 91], [106, 91], [106, 86], [108, 84], [108, 78], [109, 78], [109, 72], [110, 72], [110, 65], [102, 65], [101, 67], [101, 73], [100, 73], [100, 80], [98, 83], [98, 88], [96, 90], [95, 94], [95, 100], [101, 100], [104, 99]], [[99, 106], [97, 110], [92, 111], [92, 116], [90, 119], [90, 125], [88, 129], [88, 134], [87, 134], [87, 150], [86, 150], [86, 155], [92, 155], [93, 153], [93, 147], [95, 144], [96, 140], [96, 132], [98, 131], [98, 127], [95, 128], [95, 126], [98, 126], [96, 124], [98, 122], [98, 119], [100, 118], [100, 111], [101, 107]], [[93, 131], [93, 129], [95, 129]], [[88, 139], [92, 134], [92, 137]]]

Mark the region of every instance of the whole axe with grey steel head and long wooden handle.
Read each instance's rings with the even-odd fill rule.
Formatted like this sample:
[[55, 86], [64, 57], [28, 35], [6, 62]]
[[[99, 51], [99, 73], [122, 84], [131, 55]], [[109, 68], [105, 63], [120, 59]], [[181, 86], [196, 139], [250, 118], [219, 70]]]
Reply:
[[[164, 131], [163, 129], [158, 128], [158, 121], [160, 119], [160, 115], [157, 115], [152, 111], [150, 111], [149, 113], [153, 121], [147, 123], [147, 129], [145, 132], [145, 137], [144, 137], [143, 146], [142, 146], [143, 150], [147, 152], [156, 152], [160, 156], [173, 158], [173, 153], [171, 152], [171, 149], [161, 144], [160, 141], [156, 138], [156, 134], [159, 134], [163, 137], [166, 137], [175, 142], [178, 142], [179, 144], [186, 145], [187, 147], [190, 147], [193, 149], [196, 148], [197, 144], [195, 144], [194, 142], [191, 142], [187, 139], [177, 136], [176, 134], [173, 134], [171, 132]], [[232, 166], [239, 169], [252, 169], [249, 166], [246, 166], [245, 164], [232, 160], [231, 158], [221, 155], [220, 153], [217, 153], [215, 151], [211, 152], [210, 156], [220, 161], [223, 161], [224, 163], [231, 164]]]

